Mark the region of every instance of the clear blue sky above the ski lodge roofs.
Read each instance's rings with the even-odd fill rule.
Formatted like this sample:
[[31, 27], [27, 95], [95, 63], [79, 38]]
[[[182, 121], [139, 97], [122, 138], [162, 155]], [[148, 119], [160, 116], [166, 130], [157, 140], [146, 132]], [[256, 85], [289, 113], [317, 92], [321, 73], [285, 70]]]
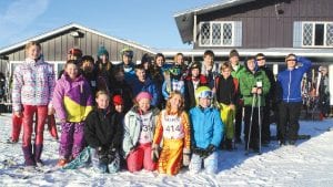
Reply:
[[1, 0], [0, 49], [78, 23], [158, 49], [189, 49], [173, 15], [216, 0]]

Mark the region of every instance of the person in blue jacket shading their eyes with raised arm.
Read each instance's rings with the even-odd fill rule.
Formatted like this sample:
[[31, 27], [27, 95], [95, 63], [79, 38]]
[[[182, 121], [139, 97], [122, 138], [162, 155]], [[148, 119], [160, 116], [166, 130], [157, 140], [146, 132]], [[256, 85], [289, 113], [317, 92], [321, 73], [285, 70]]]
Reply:
[[[299, 118], [302, 108], [301, 82], [305, 72], [311, 69], [311, 61], [287, 54], [286, 70], [278, 74], [276, 86], [281, 102], [279, 104], [280, 145], [294, 145], [300, 129]], [[300, 65], [297, 65], [300, 63]], [[296, 66], [297, 65], [297, 66]]]

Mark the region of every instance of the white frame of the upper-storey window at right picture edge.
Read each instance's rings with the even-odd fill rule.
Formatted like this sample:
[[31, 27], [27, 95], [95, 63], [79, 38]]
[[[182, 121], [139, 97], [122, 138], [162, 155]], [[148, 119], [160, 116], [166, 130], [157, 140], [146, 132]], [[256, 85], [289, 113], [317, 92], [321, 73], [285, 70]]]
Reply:
[[[304, 45], [303, 40], [303, 28], [304, 24], [312, 24], [312, 45]], [[323, 45], [315, 45], [315, 24], [324, 24], [324, 44]], [[333, 45], [326, 45], [326, 40], [327, 40], [327, 24], [333, 24], [333, 22], [330, 21], [302, 21], [302, 29], [301, 29], [301, 34], [302, 34], [302, 48], [333, 48]]]

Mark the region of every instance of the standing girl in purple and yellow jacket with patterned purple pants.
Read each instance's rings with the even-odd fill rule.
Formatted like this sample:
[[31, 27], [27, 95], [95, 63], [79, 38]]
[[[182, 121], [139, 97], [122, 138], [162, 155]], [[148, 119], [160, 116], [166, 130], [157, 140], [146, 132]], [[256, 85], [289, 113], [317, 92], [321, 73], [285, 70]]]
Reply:
[[61, 122], [58, 165], [64, 166], [83, 149], [84, 121], [92, 110], [90, 85], [79, 73], [75, 61], [67, 61], [64, 73], [57, 81], [52, 103]]

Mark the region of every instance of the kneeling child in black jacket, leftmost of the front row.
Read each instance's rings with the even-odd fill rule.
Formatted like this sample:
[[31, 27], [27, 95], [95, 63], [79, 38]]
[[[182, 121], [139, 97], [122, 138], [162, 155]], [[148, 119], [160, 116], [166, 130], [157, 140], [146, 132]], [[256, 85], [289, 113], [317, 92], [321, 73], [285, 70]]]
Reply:
[[95, 102], [98, 107], [89, 113], [84, 126], [84, 138], [89, 146], [64, 168], [82, 167], [91, 160], [98, 173], [117, 173], [120, 169], [121, 117], [110, 111], [110, 97], [105, 91], [97, 93]]

